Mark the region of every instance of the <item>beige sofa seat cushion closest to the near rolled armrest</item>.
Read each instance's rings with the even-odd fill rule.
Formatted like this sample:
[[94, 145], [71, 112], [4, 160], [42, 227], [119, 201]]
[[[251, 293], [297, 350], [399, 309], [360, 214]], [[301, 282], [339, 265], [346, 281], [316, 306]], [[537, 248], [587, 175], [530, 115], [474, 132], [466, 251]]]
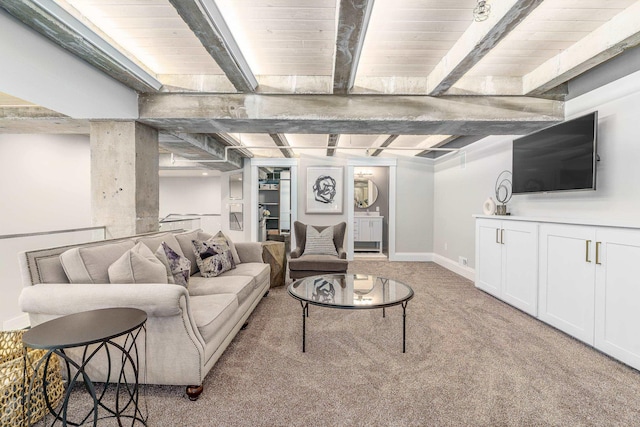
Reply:
[[238, 310], [238, 298], [235, 294], [216, 294], [190, 297], [191, 314], [196, 326], [209, 342]]

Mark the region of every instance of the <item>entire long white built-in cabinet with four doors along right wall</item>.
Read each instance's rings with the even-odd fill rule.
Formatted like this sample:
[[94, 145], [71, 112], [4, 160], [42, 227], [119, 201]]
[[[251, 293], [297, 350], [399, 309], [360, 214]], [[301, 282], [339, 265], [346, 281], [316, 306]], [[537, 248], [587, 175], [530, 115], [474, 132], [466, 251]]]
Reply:
[[[527, 242], [523, 237], [527, 235], [526, 231], [519, 236], [522, 232], [511, 232], [512, 228], [537, 230], [535, 254], [526, 253], [524, 244], [514, 242], [515, 249], [509, 261], [512, 254], [509, 236], [514, 234], [516, 241]], [[519, 236], [519, 240], [515, 236]], [[530, 234], [527, 236], [531, 237]], [[491, 243], [501, 249], [496, 250]], [[525, 266], [527, 261], [522, 257], [532, 257], [530, 265]], [[538, 269], [535, 288], [537, 317], [540, 320], [640, 369], [640, 229], [551, 221], [477, 219], [478, 288], [531, 314], [513, 302], [514, 296], [522, 299], [522, 290], [532, 286], [529, 280], [531, 266]], [[508, 271], [517, 268], [523, 269], [522, 274], [510, 276]], [[495, 284], [496, 271], [501, 272], [500, 286]], [[512, 280], [520, 283], [510, 288]]]

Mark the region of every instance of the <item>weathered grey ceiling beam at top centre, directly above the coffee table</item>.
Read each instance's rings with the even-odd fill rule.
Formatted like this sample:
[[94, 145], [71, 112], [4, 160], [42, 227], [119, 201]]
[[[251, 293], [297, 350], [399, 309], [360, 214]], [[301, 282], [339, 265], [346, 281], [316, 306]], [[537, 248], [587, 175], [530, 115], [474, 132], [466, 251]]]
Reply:
[[341, 0], [333, 72], [333, 93], [353, 88], [374, 0]]

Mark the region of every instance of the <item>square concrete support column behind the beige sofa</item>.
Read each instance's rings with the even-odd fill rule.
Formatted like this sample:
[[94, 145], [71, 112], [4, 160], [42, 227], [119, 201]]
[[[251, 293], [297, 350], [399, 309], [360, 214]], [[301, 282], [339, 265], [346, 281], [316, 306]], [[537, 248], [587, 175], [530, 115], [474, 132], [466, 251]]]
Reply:
[[91, 122], [91, 217], [107, 238], [158, 230], [158, 131], [135, 121]]

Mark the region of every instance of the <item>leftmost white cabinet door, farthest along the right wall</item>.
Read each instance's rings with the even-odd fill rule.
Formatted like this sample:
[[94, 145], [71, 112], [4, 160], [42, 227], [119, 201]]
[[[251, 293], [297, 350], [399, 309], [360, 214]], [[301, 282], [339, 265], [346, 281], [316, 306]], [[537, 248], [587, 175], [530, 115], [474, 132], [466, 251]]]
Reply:
[[500, 298], [502, 281], [501, 221], [476, 221], [476, 287]]

